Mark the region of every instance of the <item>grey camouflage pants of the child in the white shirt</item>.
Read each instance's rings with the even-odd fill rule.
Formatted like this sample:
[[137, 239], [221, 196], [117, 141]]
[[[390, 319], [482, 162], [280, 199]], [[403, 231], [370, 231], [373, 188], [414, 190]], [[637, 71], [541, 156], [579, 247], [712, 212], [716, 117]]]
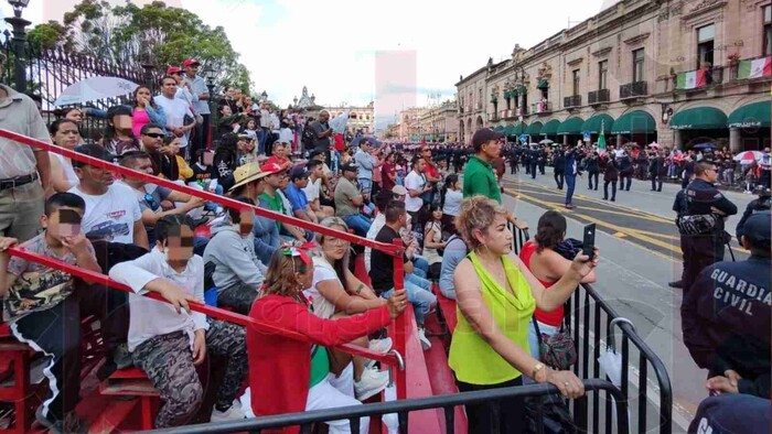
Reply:
[[[206, 351], [228, 359], [215, 401], [215, 408], [227, 409], [247, 376], [246, 332], [244, 327], [224, 321], [208, 319], [208, 324]], [[204, 398], [204, 389], [193, 366], [190, 337], [183, 332], [156, 336], [135, 348], [132, 356], [135, 365], [148, 375], [161, 393], [163, 404], [156, 417], [156, 427], [180, 426], [190, 421]]]

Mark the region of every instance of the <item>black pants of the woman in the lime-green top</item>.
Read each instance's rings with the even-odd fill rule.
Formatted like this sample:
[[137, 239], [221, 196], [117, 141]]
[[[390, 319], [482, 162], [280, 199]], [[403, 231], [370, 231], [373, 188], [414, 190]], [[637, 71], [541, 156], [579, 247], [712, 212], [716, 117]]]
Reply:
[[[523, 386], [523, 377], [498, 384], [470, 384], [455, 381], [460, 392], [491, 390]], [[525, 432], [525, 402], [523, 398], [510, 398], [502, 401], [467, 404], [469, 434], [517, 434]]]

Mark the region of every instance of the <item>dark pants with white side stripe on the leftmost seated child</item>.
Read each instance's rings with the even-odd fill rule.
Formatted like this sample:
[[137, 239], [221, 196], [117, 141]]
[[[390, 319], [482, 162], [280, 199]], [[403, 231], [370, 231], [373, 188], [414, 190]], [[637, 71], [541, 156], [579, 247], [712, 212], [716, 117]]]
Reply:
[[[97, 316], [107, 354], [126, 343], [129, 330], [128, 306], [108, 308], [110, 290], [100, 285], [81, 284], [75, 292], [54, 307], [31, 313], [12, 327], [15, 337], [28, 343], [50, 359], [44, 369], [49, 393], [43, 415], [63, 420], [81, 400], [81, 321]], [[119, 293], [126, 295], [124, 293]], [[47, 404], [46, 404], [47, 403]]]

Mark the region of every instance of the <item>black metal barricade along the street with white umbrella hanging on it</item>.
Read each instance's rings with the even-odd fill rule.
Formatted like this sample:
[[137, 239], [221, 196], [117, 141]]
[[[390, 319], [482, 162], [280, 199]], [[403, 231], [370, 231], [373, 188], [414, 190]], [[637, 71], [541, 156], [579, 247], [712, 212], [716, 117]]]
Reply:
[[[631, 426], [637, 430], [631, 431], [648, 433], [658, 425], [660, 433], [669, 434], [673, 431], [671, 379], [665, 365], [639, 336], [632, 322], [621, 317], [589, 284], [582, 284], [566, 302], [566, 319], [577, 345], [573, 372], [585, 379], [607, 378], [609, 372], [602, 369], [599, 358], [604, 351], [613, 351], [621, 361], [618, 386], [622, 399], [629, 404], [637, 401], [631, 421]], [[620, 346], [614, 341], [615, 332], [621, 332]], [[652, 380], [650, 369], [654, 375]], [[607, 397], [602, 408], [599, 393], [591, 400], [575, 401], [572, 414], [577, 426], [589, 433], [610, 432], [613, 419], [610, 405]]]

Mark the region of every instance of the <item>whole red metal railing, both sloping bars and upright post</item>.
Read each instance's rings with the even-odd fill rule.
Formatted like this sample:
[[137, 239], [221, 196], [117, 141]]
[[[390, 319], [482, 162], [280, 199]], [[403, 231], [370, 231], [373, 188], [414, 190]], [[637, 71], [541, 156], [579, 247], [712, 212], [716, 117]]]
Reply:
[[[89, 155], [84, 155], [84, 154], [81, 154], [81, 153], [64, 149], [64, 148], [60, 148], [57, 145], [46, 143], [46, 142], [43, 142], [43, 141], [40, 141], [36, 139], [32, 139], [32, 138], [29, 138], [26, 135], [22, 135], [22, 134], [19, 134], [19, 133], [15, 133], [13, 131], [9, 131], [6, 129], [0, 129], [0, 137], [19, 142], [19, 143], [26, 144], [30, 147], [43, 149], [43, 150], [52, 152], [52, 153], [64, 155], [71, 160], [79, 161], [82, 163], [86, 163], [86, 164], [92, 165], [92, 166], [108, 170], [108, 171], [114, 172], [114, 173], [119, 173], [119, 174], [127, 176], [127, 177], [139, 178], [139, 180], [146, 181], [148, 183], [161, 185], [161, 186], [164, 186], [167, 188], [182, 192], [182, 193], [189, 194], [191, 196], [200, 197], [200, 198], [203, 198], [203, 199], [208, 200], [208, 202], [216, 202], [216, 203], [218, 203], [223, 206], [229, 207], [229, 208], [244, 209], [244, 210], [251, 209], [255, 211], [256, 215], [261, 216], [261, 217], [271, 218], [271, 219], [275, 219], [277, 221], [281, 221], [283, 224], [293, 225], [293, 226], [297, 226], [297, 227], [300, 227], [303, 229], [312, 230], [314, 232], [323, 234], [325, 236], [336, 237], [336, 238], [340, 238], [340, 239], [343, 239], [343, 240], [346, 240], [346, 241], [350, 241], [350, 242], [353, 242], [353, 243], [356, 243], [360, 246], [365, 246], [365, 247], [369, 247], [372, 249], [383, 251], [383, 252], [394, 257], [395, 287], [397, 287], [397, 289], [404, 287], [405, 269], [404, 269], [404, 264], [403, 264], [403, 253], [405, 251], [405, 248], [404, 248], [400, 239], [395, 239], [394, 243], [389, 245], [389, 243], [378, 242], [375, 240], [369, 240], [366, 238], [357, 237], [355, 235], [344, 232], [341, 230], [325, 228], [325, 227], [314, 225], [314, 224], [305, 221], [305, 220], [300, 220], [300, 219], [294, 218], [294, 217], [289, 217], [289, 216], [286, 216], [283, 214], [279, 214], [279, 213], [275, 213], [275, 211], [271, 211], [271, 210], [268, 210], [265, 208], [260, 208], [260, 207], [255, 206], [255, 205], [244, 204], [242, 202], [234, 200], [229, 197], [219, 196], [219, 195], [206, 192], [206, 191], [192, 188], [192, 187], [189, 187], [186, 185], [180, 185], [180, 184], [176, 184], [176, 183], [171, 182], [169, 180], [156, 177], [153, 175], [148, 175], [147, 173], [143, 173], [143, 172], [138, 172], [138, 171], [135, 171], [132, 169], [124, 167], [124, 166], [120, 166], [120, 165], [117, 165], [117, 164], [114, 164], [110, 162], [95, 159], [95, 158], [89, 156]], [[63, 271], [66, 271], [73, 275], [76, 275], [78, 278], [86, 279], [90, 282], [101, 283], [101, 284], [105, 284], [105, 285], [110, 286], [110, 287], [116, 289], [116, 290], [126, 291], [126, 292], [133, 292], [128, 286], [119, 284], [118, 282], [110, 280], [107, 275], [104, 275], [100, 273], [95, 273], [95, 272], [89, 271], [89, 270], [83, 270], [83, 269], [79, 269], [77, 267], [69, 265], [67, 263], [57, 261], [57, 260], [52, 259], [52, 258], [46, 258], [46, 257], [43, 257], [40, 254], [31, 253], [31, 252], [25, 251], [22, 248], [17, 247], [17, 248], [10, 249], [10, 254], [17, 256], [17, 257], [22, 258], [22, 259], [26, 259], [29, 261], [42, 263], [46, 267], [63, 270]], [[161, 297], [160, 294], [157, 294], [157, 293], [149, 292], [144, 295], [149, 296], [153, 300], [165, 302], [165, 300], [163, 300], [163, 297]], [[283, 328], [276, 327], [276, 326], [268, 324], [268, 323], [261, 323], [261, 322], [258, 322], [258, 321], [253, 319], [253, 318], [245, 316], [245, 315], [235, 314], [235, 313], [232, 313], [228, 311], [219, 310], [219, 308], [207, 306], [205, 304], [200, 304], [200, 303], [191, 303], [190, 307], [192, 311], [201, 312], [203, 314], [206, 314], [206, 315], [214, 317], [214, 318], [217, 318], [217, 319], [228, 321], [228, 322], [233, 322], [233, 323], [240, 324], [244, 326], [253, 326], [253, 327], [256, 327], [262, 332], [275, 333], [277, 335], [281, 335], [281, 336], [285, 336], [285, 337], [291, 338], [291, 339], [310, 341], [310, 339], [304, 335], [296, 334], [296, 333], [286, 330]], [[400, 356], [405, 355], [405, 339], [406, 339], [405, 327], [406, 326], [407, 326], [407, 323], [406, 323], [405, 318], [403, 317], [403, 315], [399, 315], [395, 319], [395, 329], [397, 330], [397, 336], [394, 336], [394, 347], [395, 347], [395, 350], [397, 352], [399, 352]], [[373, 352], [373, 351], [369, 351], [368, 349], [355, 347], [355, 346], [347, 345], [347, 344], [340, 346], [340, 347], [336, 347], [336, 348], [341, 349], [342, 351], [352, 354], [352, 355], [366, 357], [368, 359], [378, 360], [378, 361], [386, 364], [386, 365], [389, 365], [389, 366], [397, 366], [397, 367], [401, 368], [397, 357], [395, 357], [394, 355], [390, 355], [390, 354], [384, 355], [384, 354]], [[397, 369], [396, 383], [397, 383], [397, 399], [400, 399], [400, 400], [405, 399], [407, 397], [407, 394], [406, 394], [407, 378], [406, 378], [404, 369]]]

